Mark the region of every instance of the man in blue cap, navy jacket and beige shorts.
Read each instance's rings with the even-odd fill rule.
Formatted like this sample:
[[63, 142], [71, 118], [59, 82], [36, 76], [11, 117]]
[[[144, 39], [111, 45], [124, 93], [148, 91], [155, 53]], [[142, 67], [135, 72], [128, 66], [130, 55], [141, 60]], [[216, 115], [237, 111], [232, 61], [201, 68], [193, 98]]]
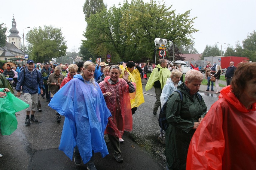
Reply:
[[[23, 71], [20, 72], [20, 77], [16, 86], [17, 90], [17, 96], [20, 97], [20, 91], [21, 86], [23, 90], [23, 95], [25, 102], [29, 104], [29, 107], [26, 108], [26, 121], [25, 124], [29, 125], [30, 120], [32, 122], [38, 122], [37, 119], [35, 119], [34, 114], [35, 110], [37, 110], [37, 104], [38, 104], [38, 85], [41, 89], [41, 94], [43, 94], [43, 77], [35, 69], [35, 63], [33, 60], [27, 61], [27, 68], [25, 68]], [[29, 115], [31, 112], [31, 117], [29, 120]]]

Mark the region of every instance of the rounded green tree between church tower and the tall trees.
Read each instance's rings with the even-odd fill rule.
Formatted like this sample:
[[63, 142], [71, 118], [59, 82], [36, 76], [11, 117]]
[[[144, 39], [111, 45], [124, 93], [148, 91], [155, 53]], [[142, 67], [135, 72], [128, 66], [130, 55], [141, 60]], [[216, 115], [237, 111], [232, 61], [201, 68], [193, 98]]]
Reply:
[[29, 55], [37, 62], [66, 55], [66, 41], [61, 28], [44, 26], [33, 28], [26, 34], [30, 49]]

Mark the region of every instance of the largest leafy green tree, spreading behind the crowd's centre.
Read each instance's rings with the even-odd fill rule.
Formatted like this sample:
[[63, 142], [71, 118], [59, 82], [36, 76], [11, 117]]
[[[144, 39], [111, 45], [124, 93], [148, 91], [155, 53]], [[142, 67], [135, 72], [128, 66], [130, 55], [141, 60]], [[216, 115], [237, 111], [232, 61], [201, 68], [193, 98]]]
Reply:
[[189, 18], [190, 11], [175, 16], [171, 7], [159, 4], [164, 3], [125, 1], [122, 6], [91, 15], [87, 19], [83, 45], [92, 55], [111, 54], [111, 62], [119, 59], [138, 63], [152, 60], [157, 37], [178, 45], [188, 43], [191, 34], [198, 31], [193, 28], [195, 18]]

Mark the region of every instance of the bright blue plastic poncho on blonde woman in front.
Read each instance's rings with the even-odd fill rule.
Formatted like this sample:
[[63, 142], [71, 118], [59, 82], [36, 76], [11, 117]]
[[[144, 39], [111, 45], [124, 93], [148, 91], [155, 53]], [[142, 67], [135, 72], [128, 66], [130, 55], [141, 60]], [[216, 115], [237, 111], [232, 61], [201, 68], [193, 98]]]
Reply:
[[84, 163], [92, 157], [92, 150], [100, 152], [102, 157], [108, 154], [104, 131], [111, 113], [99, 85], [95, 81], [94, 84], [75, 75], [49, 103], [51, 108], [66, 116], [59, 150], [72, 160], [77, 145]]

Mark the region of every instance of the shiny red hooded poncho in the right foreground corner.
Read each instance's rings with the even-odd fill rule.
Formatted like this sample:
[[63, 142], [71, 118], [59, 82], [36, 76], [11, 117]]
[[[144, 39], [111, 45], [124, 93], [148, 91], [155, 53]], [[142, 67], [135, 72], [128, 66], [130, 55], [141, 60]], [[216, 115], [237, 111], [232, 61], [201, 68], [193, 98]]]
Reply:
[[254, 169], [255, 129], [256, 104], [247, 110], [230, 86], [223, 88], [191, 139], [187, 170]]

